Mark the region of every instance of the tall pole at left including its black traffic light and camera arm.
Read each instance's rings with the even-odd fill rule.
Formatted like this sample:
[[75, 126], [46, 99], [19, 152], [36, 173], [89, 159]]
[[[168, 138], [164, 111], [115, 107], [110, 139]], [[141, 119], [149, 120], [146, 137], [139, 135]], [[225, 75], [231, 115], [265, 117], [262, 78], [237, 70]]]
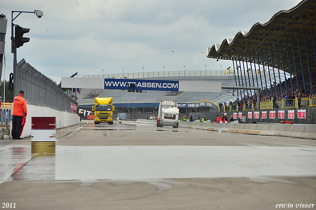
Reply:
[[[13, 13], [14, 12], [18, 12], [18, 14], [13, 18]], [[23, 45], [24, 42], [29, 42], [29, 38], [24, 38], [22, 37], [23, 33], [28, 33], [30, 31], [30, 29], [25, 29], [25, 28], [21, 28], [19, 25], [15, 25], [13, 23], [13, 21], [21, 14], [21, 13], [33, 13], [35, 14], [36, 16], [38, 16], [38, 18], [41, 18], [43, 16], [43, 12], [40, 11], [40, 10], [34, 10], [34, 12], [28, 12], [28, 11], [11, 11], [11, 53], [13, 53], [13, 97], [14, 96], [17, 96], [18, 94], [18, 90], [17, 90], [17, 72], [16, 72], [16, 65], [17, 65], [17, 61], [16, 61], [16, 48], [20, 47]], [[21, 30], [21, 33], [20, 33], [20, 44], [17, 45], [16, 44], [16, 41], [18, 40], [15, 40], [16, 37], [13, 37], [13, 28], [14, 26], [18, 27], [20, 30]], [[15, 32], [17, 33], [17, 31]]]

